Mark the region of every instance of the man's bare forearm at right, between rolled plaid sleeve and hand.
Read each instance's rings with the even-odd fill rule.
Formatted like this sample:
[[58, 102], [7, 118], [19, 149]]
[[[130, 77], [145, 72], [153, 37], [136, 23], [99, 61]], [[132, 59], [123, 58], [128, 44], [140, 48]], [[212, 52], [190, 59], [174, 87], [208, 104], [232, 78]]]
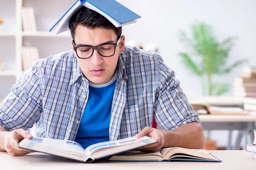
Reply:
[[203, 128], [198, 122], [192, 122], [175, 130], [160, 130], [163, 132], [163, 147], [184, 147], [202, 149], [204, 146]]

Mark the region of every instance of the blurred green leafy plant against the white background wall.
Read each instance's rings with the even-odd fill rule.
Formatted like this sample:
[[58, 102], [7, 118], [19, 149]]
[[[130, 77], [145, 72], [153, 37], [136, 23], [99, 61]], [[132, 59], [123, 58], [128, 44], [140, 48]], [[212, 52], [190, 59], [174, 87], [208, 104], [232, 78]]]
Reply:
[[227, 58], [234, 45], [235, 37], [228, 37], [218, 42], [212, 33], [211, 26], [206, 23], [192, 25], [192, 38], [184, 31], [180, 31], [180, 42], [187, 48], [187, 52], [180, 52], [186, 68], [195, 73], [202, 80], [203, 95], [221, 95], [228, 91], [228, 84], [213, 82], [213, 75], [230, 73], [233, 68], [246, 62], [239, 60], [227, 66]]

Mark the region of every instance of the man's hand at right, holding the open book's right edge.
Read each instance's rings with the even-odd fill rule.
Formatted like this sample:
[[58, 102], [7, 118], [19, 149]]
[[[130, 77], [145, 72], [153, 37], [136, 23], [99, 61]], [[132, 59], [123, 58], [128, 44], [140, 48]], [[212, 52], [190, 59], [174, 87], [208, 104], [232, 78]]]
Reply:
[[145, 127], [143, 130], [140, 131], [140, 133], [136, 135], [137, 138], [141, 138], [143, 136], [149, 136], [155, 139], [157, 143], [140, 147], [137, 150], [143, 152], [157, 152], [158, 150], [162, 149], [164, 144], [164, 136], [162, 131], [157, 130], [153, 127]]

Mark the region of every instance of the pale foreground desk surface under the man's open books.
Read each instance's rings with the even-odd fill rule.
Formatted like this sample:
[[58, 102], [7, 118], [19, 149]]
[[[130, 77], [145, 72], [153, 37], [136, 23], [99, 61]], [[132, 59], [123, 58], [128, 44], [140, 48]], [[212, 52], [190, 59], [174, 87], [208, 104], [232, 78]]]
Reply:
[[[211, 150], [222, 162], [98, 162], [83, 164], [44, 153], [26, 156], [10, 156], [0, 152], [3, 170], [253, 170], [256, 168], [254, 154], [244, 150]], [[157, 168], [157, 169], [156, 169]]]

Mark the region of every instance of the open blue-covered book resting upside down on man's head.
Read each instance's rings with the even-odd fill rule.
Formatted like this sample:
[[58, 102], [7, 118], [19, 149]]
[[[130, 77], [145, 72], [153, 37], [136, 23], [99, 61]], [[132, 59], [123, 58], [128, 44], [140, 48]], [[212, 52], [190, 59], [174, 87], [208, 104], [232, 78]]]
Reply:
[[138, 14], [118, 3], [116, 0], [77, 0], [61, 19], [55, 23], [50, 29], [50, 32], [59, 34], [69, 30], [70, 18], [83, 6], [98, 12], [116, 27], [136, 23], [137, 19], [140, 18]]

